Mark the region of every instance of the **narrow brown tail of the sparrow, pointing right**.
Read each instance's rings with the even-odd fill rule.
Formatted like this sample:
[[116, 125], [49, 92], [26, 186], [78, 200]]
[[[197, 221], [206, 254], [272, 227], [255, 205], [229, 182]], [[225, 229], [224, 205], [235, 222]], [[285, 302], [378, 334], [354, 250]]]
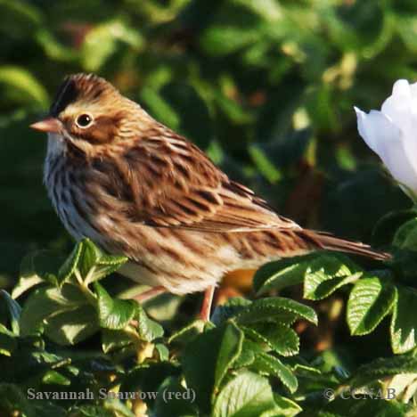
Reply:
[[371, 246], [360, 241], [347, 241], [332, 236], [330, 233], [316, 232], [314, 230], [303, 230], [304, 236], [315, 243], [320, 249], [339, 250], [340, 252], [353, 253], [367, 258], [388, 260], [389, 253], [372, 249]]

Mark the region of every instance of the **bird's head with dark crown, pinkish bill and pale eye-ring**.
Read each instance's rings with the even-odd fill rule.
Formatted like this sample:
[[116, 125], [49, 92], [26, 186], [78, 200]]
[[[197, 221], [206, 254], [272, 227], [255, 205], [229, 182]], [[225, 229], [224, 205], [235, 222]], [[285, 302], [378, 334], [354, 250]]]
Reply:
[[105, 79], [94, 74], [65, 78], [46, 119], [30, 127], [48, 133], [62, 147], [75, 146], [94, 153], [132, 138], [151, 118]]

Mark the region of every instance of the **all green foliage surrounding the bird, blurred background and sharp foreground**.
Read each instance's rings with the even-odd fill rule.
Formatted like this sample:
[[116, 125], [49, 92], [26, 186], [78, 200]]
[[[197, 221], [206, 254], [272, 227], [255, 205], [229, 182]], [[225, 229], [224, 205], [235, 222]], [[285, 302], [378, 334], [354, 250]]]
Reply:
[[[415, 413], [417, 211], [352, 110], [417, 78], [414, 3], [0, 2], [0, 415]], [[72, 249], [42, 188], [45, 141], [28, 129], [77, 71], [108, 78], [282, 215], [394, 258], [282, 259], [210, 323], [191, 321], [197, 298], [128, 300], [143, 288], [114, 274], [126, 258]], [[34, 401], [29, 388], [94, 400]]]

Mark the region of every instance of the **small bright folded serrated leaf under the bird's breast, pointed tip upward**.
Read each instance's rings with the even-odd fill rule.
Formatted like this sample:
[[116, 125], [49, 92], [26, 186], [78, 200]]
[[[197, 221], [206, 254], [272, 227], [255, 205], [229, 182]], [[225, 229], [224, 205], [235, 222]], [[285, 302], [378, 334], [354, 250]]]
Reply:
[[123, 329], [136, 314], [137, 303], [134, 300], [111, 298], [101, 284], [94, 282], [97, 294], [97, 309], [100, 325], [105, 329]]

